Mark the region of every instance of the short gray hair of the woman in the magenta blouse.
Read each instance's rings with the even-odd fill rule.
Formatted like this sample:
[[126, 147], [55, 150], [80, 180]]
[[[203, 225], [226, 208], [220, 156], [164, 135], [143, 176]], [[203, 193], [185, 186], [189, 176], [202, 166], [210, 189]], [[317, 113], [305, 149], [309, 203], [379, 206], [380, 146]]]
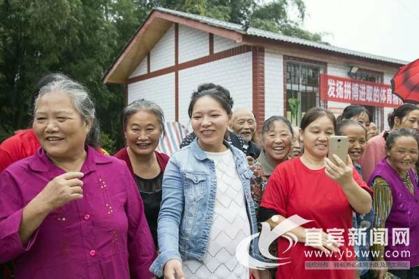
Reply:
[[72, 101], [75, 110], [80, 114], [83, 121], [88, 123], [91, 120], [91, 127], [89, 134], [86, 137], [85, 144], [97, 148], [101, 142], [101, 129], [96, 119], [96, 110], [94, 102], [89, 96], [89, 91], [86, 87], [82, 86], [78, 82], [71, 80], [68, 77], [63, 76], [58, 80], [54, 80], [42, 86], [39, 90], [39, 94], [34, 101], [34, 112], [38, 108], [39, 100], [50, 92], [58, 92], [66, 94]]

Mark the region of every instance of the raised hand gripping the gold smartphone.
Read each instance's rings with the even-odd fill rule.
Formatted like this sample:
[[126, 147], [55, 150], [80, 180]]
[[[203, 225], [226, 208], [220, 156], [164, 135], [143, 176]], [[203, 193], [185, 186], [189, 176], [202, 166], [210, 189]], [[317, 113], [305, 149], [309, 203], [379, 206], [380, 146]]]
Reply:
[[329, 158], [325, 158], [325, 172], [337, 183], [341, 186], [345, 187], [353, 180], [352, 172], [353, 172], [353, 165], [352, 160], [349, 155], [346, 155], [346, 163], [339, 158], [339, 156], [333, 154], [333, 158], [335, 162], [332, 162]]

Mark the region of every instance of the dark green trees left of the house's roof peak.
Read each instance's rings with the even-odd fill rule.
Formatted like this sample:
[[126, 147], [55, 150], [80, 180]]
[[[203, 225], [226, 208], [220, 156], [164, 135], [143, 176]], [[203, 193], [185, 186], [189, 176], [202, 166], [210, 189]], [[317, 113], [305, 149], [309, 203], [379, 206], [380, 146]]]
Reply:
[[89, 88], [103, 130], [122, 145], [124, 89], [101, 77], [145, 15], [131, 0], [0, 0], [2, 135], [30, 123], [37, 80], [62, 72]]

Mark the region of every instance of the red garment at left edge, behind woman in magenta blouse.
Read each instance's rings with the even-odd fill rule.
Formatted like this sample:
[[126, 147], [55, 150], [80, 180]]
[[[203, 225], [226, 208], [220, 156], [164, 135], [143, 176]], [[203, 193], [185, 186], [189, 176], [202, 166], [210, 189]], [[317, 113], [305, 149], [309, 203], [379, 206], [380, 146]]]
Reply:
[[35, 154], [41, 144], [34, 130], [22, 130], [0, 144], [0, 172], [18, 160]]

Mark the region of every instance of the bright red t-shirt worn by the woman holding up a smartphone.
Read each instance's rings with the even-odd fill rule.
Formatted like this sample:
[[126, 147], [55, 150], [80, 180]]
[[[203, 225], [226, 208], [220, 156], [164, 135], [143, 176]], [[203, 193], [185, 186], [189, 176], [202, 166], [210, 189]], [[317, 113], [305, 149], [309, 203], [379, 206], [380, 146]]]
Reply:
[[[353, 178], [360, 187], [370, 194], [372, 190], [362, 181], [358, 172], [353, 169]], [[297, 214], [312, 220], [303, 227], [327, 229], [344, 229], [344, 255], [314, 255], [320, 250], [305, 246], [298, 242], [293, 248], [288, 248], [288, 240], [280, 237], [278, 241], [278, 257], [280, 262], [290, 262], [278, 267], [278, 278], [311, 278], [311, 279], [353, 279], [355, 271], [344, 270], [315, 270], [305, 269], [305, 262], [346, 262], [355, 261], [353, 246], [348, 246], [348, 229], [352, 226], [352, 207], [341, 186], [325, 174], [325, 168], [312, 170], [306, 167], [300, 158], [288, 160], [279, 165], [270, 176], [260, 206], [272, 209], [286, 218]], [[346, 250], [351, 252], [346, 252]], [[312, 252], [312, 255], [307, 253]], [[341, 257], [341, 259], [339, 259]]]

